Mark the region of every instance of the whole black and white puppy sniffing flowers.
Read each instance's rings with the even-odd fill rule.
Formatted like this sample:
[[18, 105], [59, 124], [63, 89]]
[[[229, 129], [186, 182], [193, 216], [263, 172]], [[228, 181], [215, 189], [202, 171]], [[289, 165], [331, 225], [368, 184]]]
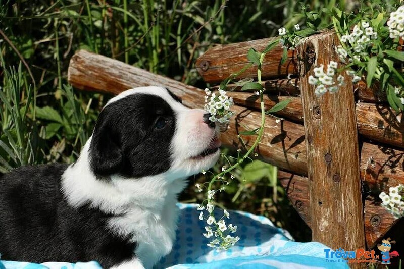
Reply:
[[112, 98], [77, 162], [0, 178], [2, 259], [153, 267], [172, 249], [186, 178], [220, 154], [209, 116], [161, 87]]

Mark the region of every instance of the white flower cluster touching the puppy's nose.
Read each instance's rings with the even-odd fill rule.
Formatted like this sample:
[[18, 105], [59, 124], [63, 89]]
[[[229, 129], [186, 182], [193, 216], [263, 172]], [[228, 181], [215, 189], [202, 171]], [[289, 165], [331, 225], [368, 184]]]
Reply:
[[226, 95], [224, 90], [219, 89], [219, 95], [216, 96], [215, 92], [211, 92], [208, 88], [205, 89], [205, 111], [212, 114], [209, 118], [212, 122], [219, 122], [227, 124], [233, 112], [230, 111], [233, 103], [233, 98]]

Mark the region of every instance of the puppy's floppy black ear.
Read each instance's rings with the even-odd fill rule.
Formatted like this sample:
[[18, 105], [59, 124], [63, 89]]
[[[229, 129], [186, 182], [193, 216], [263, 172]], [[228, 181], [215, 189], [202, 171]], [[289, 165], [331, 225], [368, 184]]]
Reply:
[[107, 177], [121, 171], [124, 154], [120, 148], [119, 134], [113, 119], [103, 110], [95, 124], [89, 149], [90, 166], [97, 176]]

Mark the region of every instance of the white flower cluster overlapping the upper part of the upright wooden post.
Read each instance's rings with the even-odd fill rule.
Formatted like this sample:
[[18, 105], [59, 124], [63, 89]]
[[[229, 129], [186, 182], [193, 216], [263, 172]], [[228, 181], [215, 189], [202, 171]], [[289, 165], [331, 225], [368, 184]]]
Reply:
[[315, 93], [317, 96], [321, 96], [327, 91], [335, 93], [338, 91], [338, 86], [344, 84], [344, 77], [342, 75], [337, 77], [337, 82], [334, 81], [337, 68], [338, 64], [334, 61], [330, 61], [328, 64], [327, 72], [324, 72], [323, 65], [314, 68], [315, 77], [312, 75], [309, 76], [309, 84], [316, 86]]

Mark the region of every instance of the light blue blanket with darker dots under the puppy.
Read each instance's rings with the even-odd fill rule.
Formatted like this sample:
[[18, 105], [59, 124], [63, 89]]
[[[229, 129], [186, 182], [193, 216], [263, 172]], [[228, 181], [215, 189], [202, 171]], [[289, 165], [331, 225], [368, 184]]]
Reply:
[[[230, 211], [229, 223], [238, 226], [240, 241], [227, 251], [218, 252], [206, 244], [204, 223], [198, 220], [196, 205], [178, 204], [180, 208], [177, 241], [173, 250], [162, 258], [156, 268], [348, 268], [344, 262], [330, 263], [324, 249], [317, 243], [296, 243], [289, 233], [276, 228], [270, 220], [254, 214]], [[218, 212], [218, 216], [222, 212]], [[1, 250], [0, 250], [1, 251]], [[328, 261], [328, 262], [327, 262]], [[2, 261], [0, 269], [98, 269], [98, 263]]]

